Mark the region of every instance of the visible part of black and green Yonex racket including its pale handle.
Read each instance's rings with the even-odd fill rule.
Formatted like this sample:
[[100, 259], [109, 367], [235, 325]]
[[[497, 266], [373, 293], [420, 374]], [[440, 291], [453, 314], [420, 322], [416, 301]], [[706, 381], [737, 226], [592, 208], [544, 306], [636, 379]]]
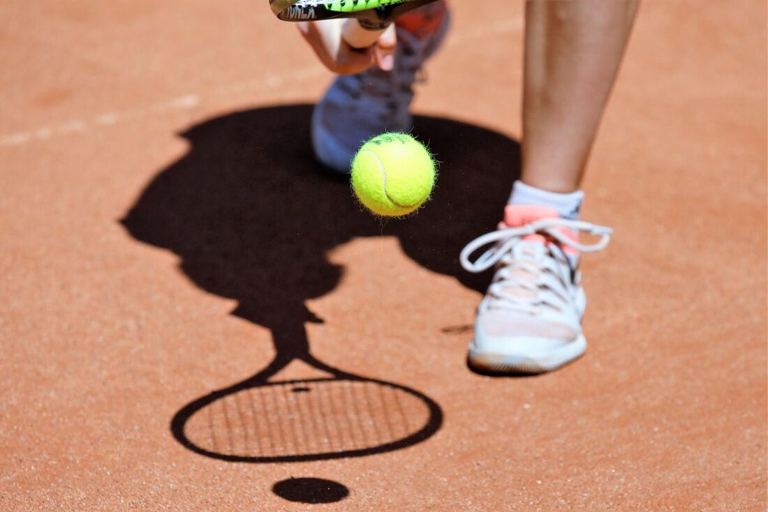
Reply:
[[[353, 48], [366, 48], [395, 19], [435, 0], [270, 0], [272, 12], [283, 21], [354, 18], [343, 26], [343, 38]], [[355, 21], [356, 20], [356, 21]]]

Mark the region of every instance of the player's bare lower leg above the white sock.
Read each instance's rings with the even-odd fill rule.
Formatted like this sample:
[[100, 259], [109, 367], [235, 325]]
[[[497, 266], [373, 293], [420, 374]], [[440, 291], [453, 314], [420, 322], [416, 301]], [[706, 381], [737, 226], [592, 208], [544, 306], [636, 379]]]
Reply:
[[528, 0], [523, 183], [578, 190], [638, 0]]

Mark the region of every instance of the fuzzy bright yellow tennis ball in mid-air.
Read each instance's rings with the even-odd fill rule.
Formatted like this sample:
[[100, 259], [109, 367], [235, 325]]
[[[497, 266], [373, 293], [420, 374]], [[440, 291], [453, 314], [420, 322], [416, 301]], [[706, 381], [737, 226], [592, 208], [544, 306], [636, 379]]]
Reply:
[[409, 134], [390, 132], [362, 144], [352, 160], [352, 188], [376, 215], [404, 216], [429, 199], [435, 160]]

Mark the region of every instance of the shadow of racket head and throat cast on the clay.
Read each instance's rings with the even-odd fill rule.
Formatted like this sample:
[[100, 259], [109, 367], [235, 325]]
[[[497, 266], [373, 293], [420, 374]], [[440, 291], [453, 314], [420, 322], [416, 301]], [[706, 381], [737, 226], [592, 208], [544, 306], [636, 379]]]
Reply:
[[[178, 411], [177, 441], [224, 461], [299, 462], [393, 451], [438, 431], [442, 411], [430, 398], [326, 365], [310, 354], [303, 326], [291, 330], [261, 372]], [[276, 378], [296, 360], [327, 376]]]

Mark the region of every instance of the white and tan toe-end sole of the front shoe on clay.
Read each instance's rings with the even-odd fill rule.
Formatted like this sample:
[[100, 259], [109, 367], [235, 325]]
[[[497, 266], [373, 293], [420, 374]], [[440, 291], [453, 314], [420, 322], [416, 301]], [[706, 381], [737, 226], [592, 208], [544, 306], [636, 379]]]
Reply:
[[467, 364], [473, 370], [493, 374], [538, 374], [551, 372], [580, 358], [587, 350], [587, 340], [579, 335], [573, 342], [541, 354], [500, 354], [482, 352], [469, 345]]

